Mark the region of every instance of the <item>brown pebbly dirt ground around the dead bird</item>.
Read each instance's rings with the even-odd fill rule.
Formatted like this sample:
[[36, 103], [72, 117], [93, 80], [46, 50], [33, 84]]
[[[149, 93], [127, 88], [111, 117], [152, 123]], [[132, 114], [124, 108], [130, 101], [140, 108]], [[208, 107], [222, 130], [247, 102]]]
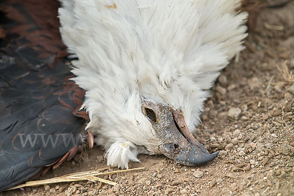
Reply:
[[[25, 188], [27, 196], [294, 196], [294, 1], [263, 8], [245, 46], [221, 73], [196, 127], [210, 152], [221, 150], [214, 161], [188, 167], [139, 155], [141, 163], [129, 167], [144, 170], [104, 176], [115, 186], [49, 184]], [[86, 161], [78, 154], [40, 179], [107, 167], [104, 153], [87, 149]]]

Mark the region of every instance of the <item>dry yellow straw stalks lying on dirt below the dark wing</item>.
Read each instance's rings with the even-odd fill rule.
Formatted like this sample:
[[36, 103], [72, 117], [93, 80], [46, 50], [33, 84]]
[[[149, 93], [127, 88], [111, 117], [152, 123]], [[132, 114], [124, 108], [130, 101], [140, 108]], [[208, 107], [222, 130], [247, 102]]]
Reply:
[[107, 170], [107, 168], [101, 168], [98, 170], [91, 170], [91, 171], [86, 171], [86, 172], [76, 172], [76, 173], [70, 173], [66, 175], [62, 175], [59, 177], [54, 177], [54, 178], [49, 178], [46, 180], [34, 180], [34, 181], [28, 181], [25, 182], [24, 184], [17, 185], [15, 187], [12, 187], [7, 190], [13, 190], [13, 189], [19, 189], [23, 187], [28, 187], [28, 186], [39, 186], [39, 185], [45, 185], [45, 184], [51, 184], [51, 183], [59, 183], [59, 182], [73, 182], [73, 181], [80, 181], [80, 180], [89, 180], [92, 182], [104, 182], [106, 184], [110, 185], [116, 185], [116, 182], [112, 182], [109, 180], [105, 180], [103, 178], [99, 178], [97, 176], [99, 175], [108, 175], [112, 173], [121, 173], [121, 172], [130, 172], [130, 171], [136, 171], [136, 170], [143, 170], [145, 168], [134, 168], [134, 169], [128, 169], [128, 170], [118, 170], [118, 171], [111, 171], [111, 172], [102, 172], [104, 170]]

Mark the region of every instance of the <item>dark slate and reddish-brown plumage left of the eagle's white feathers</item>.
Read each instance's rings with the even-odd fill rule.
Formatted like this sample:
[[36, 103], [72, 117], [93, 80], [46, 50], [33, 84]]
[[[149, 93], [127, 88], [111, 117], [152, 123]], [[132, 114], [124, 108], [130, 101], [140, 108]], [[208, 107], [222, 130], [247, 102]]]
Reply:
[[[54, 0], [0, 4], [0, 191], [71, 159], [87, 135], [88, 116], [79, 111], [84, 91], [69, 80], [58, 6]], [[24, 145], [28, 136], [36, 137], [34, 145]]]

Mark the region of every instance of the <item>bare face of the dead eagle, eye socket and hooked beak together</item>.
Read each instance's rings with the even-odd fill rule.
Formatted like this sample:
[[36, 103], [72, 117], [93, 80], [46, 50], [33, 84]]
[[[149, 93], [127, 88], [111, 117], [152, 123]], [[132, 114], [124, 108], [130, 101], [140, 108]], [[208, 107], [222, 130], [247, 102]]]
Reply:
[[142, 108], [161, 142], [157, 147], [159, 153], [188, 166], [207, 163], [218, 155], [218, 152], [210, 154], [196, 140], [180, 109], [150, 101], [144, 101]]

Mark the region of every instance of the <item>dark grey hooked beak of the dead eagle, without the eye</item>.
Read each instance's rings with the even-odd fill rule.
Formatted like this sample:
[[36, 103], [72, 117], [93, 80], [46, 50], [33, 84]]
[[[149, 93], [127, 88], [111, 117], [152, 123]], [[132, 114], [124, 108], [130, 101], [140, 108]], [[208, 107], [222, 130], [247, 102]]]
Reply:
[[[159, 150], [165, 156], [177, 163], [195, 166], [212, 161], [219, 151], [210, 154], [202, 144], [189, 131], [183, 115], [179, 110], [173, 111], [173, 121], [168, 125], [166, 132], [170, 137]], [[172, 142], [171, 142], [172, 141]]]

